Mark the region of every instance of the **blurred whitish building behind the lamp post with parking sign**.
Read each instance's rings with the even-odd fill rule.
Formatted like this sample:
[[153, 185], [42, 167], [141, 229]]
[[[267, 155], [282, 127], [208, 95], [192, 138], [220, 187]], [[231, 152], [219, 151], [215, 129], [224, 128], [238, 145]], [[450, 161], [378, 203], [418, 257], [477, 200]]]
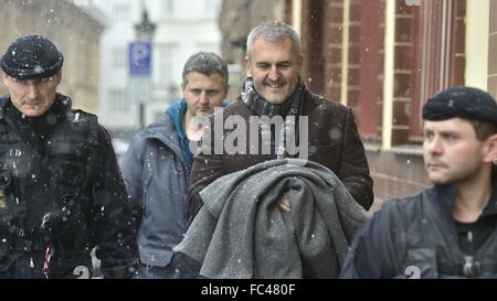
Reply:
[[[94, 1], [106, 15], [102, 35], [102, 93], [99, 115], [116, 137], [130, 138], [155, 121], [181, 97], [182, 68], [199, 51], [220, 53], [220, 0], [106, 0]], [[156, 25], [151, 41], [150, 99], [141, 106], [129, 97], [128, 45], [144, 10]]]

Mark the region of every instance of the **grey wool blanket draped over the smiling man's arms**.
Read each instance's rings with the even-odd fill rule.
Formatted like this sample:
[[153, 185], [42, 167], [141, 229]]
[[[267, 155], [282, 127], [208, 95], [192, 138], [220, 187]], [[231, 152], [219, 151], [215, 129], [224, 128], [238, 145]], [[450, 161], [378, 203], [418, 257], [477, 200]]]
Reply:
[[[285, 192], [287, 213], [276, 205]], [[276, 159], [212, 182], [175, 251], [208, 278], [336, 278], [368, 213], [318, 163]]]

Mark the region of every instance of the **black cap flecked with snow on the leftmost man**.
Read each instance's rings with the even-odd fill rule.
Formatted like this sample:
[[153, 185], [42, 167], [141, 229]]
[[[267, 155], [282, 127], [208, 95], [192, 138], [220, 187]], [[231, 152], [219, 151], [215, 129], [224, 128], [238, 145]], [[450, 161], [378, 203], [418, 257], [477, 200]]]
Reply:
[[39, 34], [15, 40], [2, 55], [0, 67], [18, 79], [36, 79], [54, 75], [64, 63], [64, 56], [46, 37]]

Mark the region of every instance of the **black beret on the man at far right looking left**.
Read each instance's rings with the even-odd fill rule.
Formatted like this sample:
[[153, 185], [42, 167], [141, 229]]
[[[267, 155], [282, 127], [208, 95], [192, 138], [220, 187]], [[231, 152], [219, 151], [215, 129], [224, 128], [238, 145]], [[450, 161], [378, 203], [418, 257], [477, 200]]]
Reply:
[[459, 117], [497, 127], [497, 103], [488, 93], [472, 87], [453, 87], [430, 98], [423, 106], [423, 119], [431, 121]]

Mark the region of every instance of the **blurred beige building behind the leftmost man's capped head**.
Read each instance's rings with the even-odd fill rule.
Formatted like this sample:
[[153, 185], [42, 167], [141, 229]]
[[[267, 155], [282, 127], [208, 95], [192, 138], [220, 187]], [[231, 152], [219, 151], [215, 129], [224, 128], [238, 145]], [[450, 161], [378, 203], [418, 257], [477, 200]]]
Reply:
[[[17, 37], [39, 33], [64, 54], [59, 92], [70, 96], [76, 108], [97, 112], [99, 103], [99, 35], [102, 22], [84, 7], [65, 0], [0, 0], [1, 53]], [[0, 85], [0, 93], [7, 93]]]

